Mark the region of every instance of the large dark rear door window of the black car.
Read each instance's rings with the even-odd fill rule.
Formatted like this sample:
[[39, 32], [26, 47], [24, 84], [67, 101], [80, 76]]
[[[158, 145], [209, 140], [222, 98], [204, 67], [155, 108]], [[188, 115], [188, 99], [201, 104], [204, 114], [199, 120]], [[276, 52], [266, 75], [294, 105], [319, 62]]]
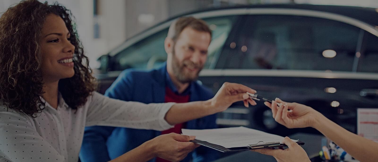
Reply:
[[352, 71], [359, 28], [317, 17], [246, 17], [223, 68]]

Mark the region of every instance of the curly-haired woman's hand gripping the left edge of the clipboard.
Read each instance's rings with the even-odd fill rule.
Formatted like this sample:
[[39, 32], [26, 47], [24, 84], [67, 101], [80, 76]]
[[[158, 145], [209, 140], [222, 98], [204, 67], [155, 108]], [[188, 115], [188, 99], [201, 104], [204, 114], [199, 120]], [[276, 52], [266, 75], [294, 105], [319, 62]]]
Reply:
[[185, 136], [176, 133], [163, 134], [147, 141], [152, 146], [155, 157], [160, 157], [172, 162], [178, 162], [184, 159], [188, 153], [200, 145], [189, 142], [194, 140], [195, 136]]

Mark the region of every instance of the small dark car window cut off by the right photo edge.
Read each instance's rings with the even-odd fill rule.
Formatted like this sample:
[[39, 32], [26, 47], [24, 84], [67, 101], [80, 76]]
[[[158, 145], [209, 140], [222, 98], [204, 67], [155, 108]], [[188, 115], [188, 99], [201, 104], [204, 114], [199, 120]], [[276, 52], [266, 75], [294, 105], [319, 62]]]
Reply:
[[359, 58], [358, 71], [378, 73], [378, 37], [365, 32], [364, 49]]

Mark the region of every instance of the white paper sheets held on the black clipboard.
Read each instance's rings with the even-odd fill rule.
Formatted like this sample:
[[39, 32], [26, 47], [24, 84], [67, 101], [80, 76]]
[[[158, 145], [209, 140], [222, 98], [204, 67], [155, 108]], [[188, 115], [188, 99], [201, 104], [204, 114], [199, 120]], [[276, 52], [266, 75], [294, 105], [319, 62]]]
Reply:
[[[284, 137], [265, 133], [246, 127], [217, 128], [207, 130], [182, 129], [182, 134], [195, 136], [195, 139], [220, 145], [225, 148], [247, 147], [248, 145], [267, 142], [281, 142]], [[293, 140], [297, 142], [298, 140]]]

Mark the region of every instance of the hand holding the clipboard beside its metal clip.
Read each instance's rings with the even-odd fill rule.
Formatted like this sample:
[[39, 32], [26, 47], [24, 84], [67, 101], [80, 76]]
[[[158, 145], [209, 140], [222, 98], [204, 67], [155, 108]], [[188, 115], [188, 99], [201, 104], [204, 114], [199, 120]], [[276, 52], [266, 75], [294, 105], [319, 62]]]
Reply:
[[252, 151], [271, 155], [276, 158], [277, 162], [310, 162], [306, 151], [289, 137], [285, 137], [282, 143], [285, 143], [289, 148], [285, 150], [264, 148]]

